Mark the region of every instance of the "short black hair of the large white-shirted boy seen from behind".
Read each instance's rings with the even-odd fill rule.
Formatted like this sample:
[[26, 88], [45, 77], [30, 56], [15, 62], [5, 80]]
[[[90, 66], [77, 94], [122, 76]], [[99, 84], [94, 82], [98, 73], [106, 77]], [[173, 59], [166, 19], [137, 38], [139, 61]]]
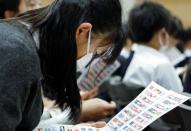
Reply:
[[170, 12], [153, 2], [144, 2], [130, 11], [129, 37], [133, 42], [149, 42], [162, 28], [169, 27]]

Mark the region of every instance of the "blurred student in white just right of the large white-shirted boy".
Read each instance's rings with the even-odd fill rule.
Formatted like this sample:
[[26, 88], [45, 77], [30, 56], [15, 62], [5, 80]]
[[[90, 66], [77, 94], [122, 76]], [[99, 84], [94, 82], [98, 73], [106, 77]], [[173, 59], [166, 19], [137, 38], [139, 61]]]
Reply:
[[177, 74], [183, 80], [186, 70], [185, 65], [188, 63], [189, 58], [184, 54], [184, 48], [180, 48], [184, 46], [184, 27], [178, 17], [172, 16], [167, 32], [169, 33], [169, 41], [165, 43], [166, 46], [163, 46], [160, 52], [170, 60]]

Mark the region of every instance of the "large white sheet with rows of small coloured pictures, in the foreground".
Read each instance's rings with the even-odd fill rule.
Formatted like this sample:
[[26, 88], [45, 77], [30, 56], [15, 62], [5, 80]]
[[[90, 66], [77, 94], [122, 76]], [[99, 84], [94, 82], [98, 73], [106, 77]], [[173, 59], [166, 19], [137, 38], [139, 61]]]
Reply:
[[[151, 82], [130, 104], [114, 116], [104, 128], [57, 126], [46, 131], [142, 131], [162, 115], [190, 99]], [[63, 129], [63, 130], [61, 130]], [[38, 130], [45, 131], [45, 130]]]

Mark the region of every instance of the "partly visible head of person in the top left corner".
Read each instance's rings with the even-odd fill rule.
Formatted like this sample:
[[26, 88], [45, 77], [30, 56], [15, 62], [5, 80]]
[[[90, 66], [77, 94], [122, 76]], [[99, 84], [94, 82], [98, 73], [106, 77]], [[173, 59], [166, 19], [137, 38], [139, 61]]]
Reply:
[[26, 10], [25, 0], [0, 0], [0, 19], [16, 16]]

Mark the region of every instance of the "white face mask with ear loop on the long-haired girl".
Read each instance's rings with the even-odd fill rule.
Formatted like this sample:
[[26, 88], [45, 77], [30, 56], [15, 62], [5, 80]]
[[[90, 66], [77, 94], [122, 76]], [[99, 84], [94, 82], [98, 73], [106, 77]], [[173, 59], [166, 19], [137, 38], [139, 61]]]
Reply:
[[91, 30], [88, 36], [87, 53], [85, 56], [77, 60], [77, 71], [84, 70], [87, 64], [91, 61], [93, 53], [90, 52], [90, 47], [91, 47]]

